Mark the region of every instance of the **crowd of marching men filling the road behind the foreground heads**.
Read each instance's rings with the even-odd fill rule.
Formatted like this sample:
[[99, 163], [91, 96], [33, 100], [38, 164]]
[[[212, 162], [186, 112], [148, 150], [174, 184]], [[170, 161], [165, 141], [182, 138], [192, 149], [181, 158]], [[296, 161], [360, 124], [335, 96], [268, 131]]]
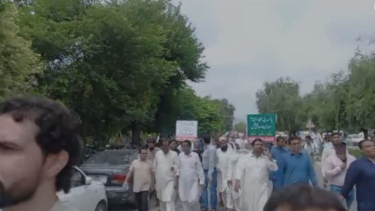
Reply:
[[[374, 142], [362, 141], [359, 148], [364, 158], [355, 160], [340, 134], [333, 133], [330, 140], [322, 155], [322, 173], [329, 190], [350, 209], [355, 186], [358, 211], [375, 211]], [[271, 150], [261, 139], [247, 142], [205, 136], [193, 143], [149, 139], [126, 183], [147, 181], [142, 191], [135, 191], [140, 211], [147, 211], [153, 187], [161, 211], [176, 211], [177, 197], [184, 211], [215, 211], [220, 204], [228, 211], [263, 211], [270, 208], [272, 192], [277, 195], [277, 190], [301, 185], [319, 187], [314, 153], [307, 150], [308, 145], [295, 136], [288, 140], [277, 137]], [[147, 168], [138, 165], [140, 162]]]

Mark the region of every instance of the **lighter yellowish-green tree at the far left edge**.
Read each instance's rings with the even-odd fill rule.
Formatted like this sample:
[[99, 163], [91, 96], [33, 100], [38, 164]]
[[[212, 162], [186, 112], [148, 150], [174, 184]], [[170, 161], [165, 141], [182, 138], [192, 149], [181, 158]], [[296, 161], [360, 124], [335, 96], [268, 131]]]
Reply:
[[34, 74], [42, 71], [39, 55], [31, 43], [19, 36], [18, 10], [7, 0], [0, 0], [0, 99], [32, 92]]

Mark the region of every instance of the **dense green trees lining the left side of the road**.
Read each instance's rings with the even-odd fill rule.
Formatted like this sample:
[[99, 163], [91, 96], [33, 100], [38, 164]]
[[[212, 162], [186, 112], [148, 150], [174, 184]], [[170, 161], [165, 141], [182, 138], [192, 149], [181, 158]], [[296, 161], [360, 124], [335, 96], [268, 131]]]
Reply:
[[194, 28], [169, 0], [0, 0], [0, 99], [34, 94], [76, 112], [85, 140], [132, 131], [231, 129], [234, 107], [200, 97], [208, 64]]

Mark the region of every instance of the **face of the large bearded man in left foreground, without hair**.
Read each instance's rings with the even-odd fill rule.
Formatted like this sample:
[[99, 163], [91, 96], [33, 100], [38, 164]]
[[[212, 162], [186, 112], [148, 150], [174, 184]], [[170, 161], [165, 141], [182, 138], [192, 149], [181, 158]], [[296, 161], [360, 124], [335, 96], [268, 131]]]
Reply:
[[43, 156], [30, 120], [0, 115], [0, 209], [29, 200], [42, 180]]

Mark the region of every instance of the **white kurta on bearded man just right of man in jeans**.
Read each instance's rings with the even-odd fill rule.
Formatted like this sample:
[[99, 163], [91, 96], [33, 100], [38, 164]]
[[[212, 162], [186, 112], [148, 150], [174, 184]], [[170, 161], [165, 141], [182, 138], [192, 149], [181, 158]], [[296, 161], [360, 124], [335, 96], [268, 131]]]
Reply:
[[222, 151], [221, 148], [216, 149], [217, 156], [217, 191], [224, 192], [228, 187], [227, 170], [230, 164], [230, 157], [233, 150], [228, 146], [227, 151]]

